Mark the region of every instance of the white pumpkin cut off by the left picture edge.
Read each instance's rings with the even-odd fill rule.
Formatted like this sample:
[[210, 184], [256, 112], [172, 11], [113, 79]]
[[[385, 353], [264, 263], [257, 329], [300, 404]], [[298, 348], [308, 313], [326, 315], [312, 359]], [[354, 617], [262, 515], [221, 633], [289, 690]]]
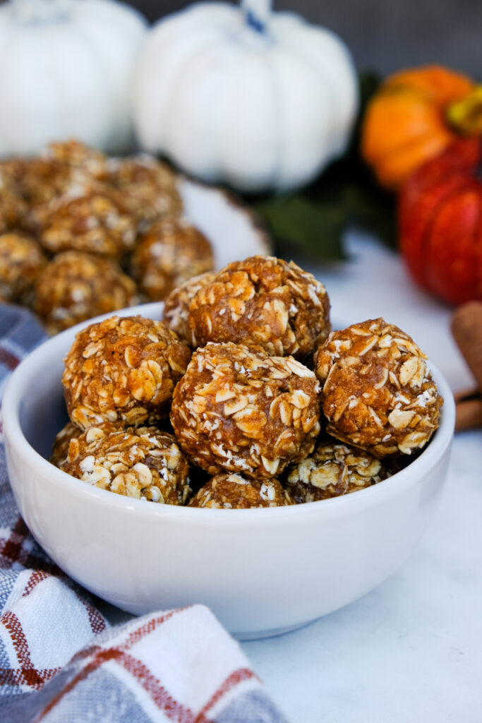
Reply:
[[111, 0], [10, 0], [0, 6], [0, 155], [78, 138], [132, 143], [132, 71], [144, 18]]

